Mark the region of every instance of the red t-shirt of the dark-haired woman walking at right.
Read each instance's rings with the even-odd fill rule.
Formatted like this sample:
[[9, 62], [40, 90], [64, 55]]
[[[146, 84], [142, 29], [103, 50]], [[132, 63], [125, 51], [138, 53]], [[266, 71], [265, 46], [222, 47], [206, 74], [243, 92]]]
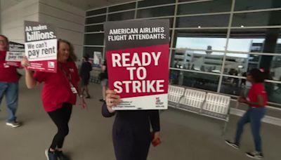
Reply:
[[261, 95], [263, 97], [263, 106], [251, 105], [251, 107], [266, 107], [268, 96], [266, 95], [266, 91], [264, 90], [264, 86], [262, 83], [252, 84], [248, 93], [249, 101], [256, 102], [258, 99], [258, 95]]

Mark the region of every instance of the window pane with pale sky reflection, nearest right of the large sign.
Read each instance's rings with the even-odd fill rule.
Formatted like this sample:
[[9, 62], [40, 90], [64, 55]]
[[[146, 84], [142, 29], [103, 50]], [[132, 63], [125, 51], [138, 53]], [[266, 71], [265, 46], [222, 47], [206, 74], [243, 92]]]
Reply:
[[188, 29], [176, 30], [176, 48], [193, 48], [224, 51], [227, 29]]

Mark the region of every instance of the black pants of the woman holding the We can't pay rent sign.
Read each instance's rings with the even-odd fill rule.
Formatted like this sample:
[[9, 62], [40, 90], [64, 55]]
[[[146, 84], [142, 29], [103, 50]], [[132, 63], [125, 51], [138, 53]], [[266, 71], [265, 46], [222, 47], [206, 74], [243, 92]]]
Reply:
[[72, 105], [64, 102], [63, 107], [52, 112], [48, 112], [55, 126], [58, 128], [58, 133], [53, 137], [51, 149], [62, 148], [65, 136], [69, 133], [68, 122], [72, 113]]

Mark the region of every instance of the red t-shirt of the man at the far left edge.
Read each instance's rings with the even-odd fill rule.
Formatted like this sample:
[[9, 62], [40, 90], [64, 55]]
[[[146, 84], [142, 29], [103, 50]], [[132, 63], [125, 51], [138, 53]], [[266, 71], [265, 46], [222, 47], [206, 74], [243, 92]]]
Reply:
[[18, 76], [17, 67], [6, 65], [6, 51], [0, 51], [0, 81], [1, 82], [17, 82]]

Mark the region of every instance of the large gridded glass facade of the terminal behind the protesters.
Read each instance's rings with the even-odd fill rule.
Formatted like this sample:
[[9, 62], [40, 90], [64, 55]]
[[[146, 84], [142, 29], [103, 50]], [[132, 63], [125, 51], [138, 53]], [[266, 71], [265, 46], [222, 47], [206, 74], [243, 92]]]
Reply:
[[170, 20], [169, 83], [240, 95], [245, 74], [268, 74], [269, 105], [281, 107], [280, 0], [131, 1], [86, 12], [84, 54], [104, 54], [103, 22]]

